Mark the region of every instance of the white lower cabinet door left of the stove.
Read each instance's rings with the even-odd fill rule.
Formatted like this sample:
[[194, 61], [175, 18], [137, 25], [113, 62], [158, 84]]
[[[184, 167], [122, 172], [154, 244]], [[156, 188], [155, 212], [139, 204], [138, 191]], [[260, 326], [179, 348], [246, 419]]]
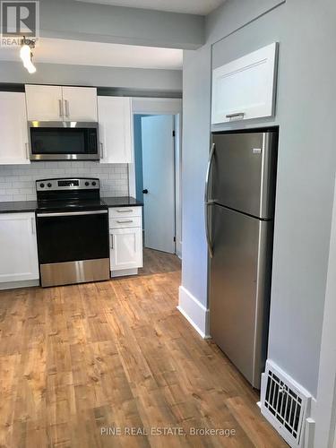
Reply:
[[39, 279], [35, 213], [0, 214], [0, 282]]

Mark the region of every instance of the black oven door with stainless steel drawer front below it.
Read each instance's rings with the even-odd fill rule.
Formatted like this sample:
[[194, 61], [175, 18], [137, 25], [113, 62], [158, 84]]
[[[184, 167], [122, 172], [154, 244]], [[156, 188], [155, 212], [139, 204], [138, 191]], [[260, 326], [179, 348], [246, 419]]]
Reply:
[[37, 214], [42, 286], [109, 279], [108, 210]]

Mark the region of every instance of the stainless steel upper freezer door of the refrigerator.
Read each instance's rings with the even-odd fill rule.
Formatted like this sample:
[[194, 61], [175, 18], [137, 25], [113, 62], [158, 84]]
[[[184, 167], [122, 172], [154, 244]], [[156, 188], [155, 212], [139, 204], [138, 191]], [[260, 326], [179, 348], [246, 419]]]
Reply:
[[277, 134], [213, 134], [212, 198], [262, 219], [274, 212]]

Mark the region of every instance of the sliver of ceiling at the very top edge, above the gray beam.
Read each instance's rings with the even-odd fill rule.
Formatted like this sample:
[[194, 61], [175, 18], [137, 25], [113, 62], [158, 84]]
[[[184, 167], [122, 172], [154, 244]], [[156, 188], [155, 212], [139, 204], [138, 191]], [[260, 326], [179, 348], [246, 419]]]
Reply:
[[225, 0], [77, 0], [94, 4], [111, 4], [128, 8], [154, 9], [171, 13], [189, 13], [206, 15], [211, 13]]

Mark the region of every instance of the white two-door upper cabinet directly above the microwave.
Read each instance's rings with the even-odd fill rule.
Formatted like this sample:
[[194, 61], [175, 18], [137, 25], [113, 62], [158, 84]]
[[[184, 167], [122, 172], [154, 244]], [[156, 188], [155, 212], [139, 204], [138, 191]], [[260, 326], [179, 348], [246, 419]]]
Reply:
[[29, 121], [97, 122], [95, 87], [25, 86]]

